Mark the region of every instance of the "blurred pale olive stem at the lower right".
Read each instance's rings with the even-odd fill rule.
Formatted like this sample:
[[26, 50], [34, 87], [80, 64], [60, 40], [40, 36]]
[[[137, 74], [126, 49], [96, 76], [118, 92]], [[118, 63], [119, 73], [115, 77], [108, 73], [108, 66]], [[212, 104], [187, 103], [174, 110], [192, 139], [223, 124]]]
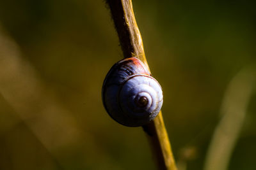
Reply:
[[221, 120], [216, 126], [207, 151], [204, 170], [225, 170], [243, 128], [246, 110], [256, 84], [256, 70], [246, 67], [232, 78], [221, 106]]

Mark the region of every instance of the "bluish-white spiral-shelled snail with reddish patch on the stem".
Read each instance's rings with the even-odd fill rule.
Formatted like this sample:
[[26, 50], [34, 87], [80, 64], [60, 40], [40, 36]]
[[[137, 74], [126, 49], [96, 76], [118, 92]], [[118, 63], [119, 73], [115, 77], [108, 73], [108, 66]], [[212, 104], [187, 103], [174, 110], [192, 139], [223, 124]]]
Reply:
[[143, 62], [131, 57], [120, 60], [109, 70], [102, 86], [102, 101], [116, 122], [138, 127], [158, 115], [163, 92]]

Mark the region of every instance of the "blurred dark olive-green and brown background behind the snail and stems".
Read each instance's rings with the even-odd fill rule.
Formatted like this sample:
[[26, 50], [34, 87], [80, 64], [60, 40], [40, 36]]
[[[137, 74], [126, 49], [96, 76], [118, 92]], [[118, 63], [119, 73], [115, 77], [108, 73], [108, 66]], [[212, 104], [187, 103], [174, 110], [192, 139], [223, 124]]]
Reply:
[[[203, 169], [230, 81], [256, 66], [255, 4], [133, 6], [175, 159]], [[0, 0], [0, 25], [0, 169], [156, 169], [142, 128], [102, 105], [104, 77], [122, 59], [103, 1]], [[249, 98], [228, 169], [256, 169], [255, 90]]]

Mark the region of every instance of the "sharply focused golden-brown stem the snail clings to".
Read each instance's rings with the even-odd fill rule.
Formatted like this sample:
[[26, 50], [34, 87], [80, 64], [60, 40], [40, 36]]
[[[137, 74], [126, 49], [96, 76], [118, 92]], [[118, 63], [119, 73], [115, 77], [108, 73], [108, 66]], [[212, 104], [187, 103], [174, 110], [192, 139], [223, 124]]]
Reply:
[[[114, 20], [124, 57], [137, 57], [148, 67], [141, 34], [132, 9], [132, 1], [107, 0], [106, 2]], [[144, 125], [143, 129], [152, 145], [159, 169], [177, 169], [161, 111], [150, 124]]]

